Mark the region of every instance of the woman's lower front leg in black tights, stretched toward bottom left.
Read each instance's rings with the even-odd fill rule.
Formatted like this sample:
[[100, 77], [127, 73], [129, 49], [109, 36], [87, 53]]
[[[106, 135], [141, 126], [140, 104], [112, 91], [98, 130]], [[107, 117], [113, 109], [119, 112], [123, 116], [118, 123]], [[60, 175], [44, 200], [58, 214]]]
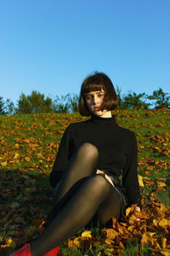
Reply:
[[42, 256], [59, 246], [88, 224], [95, 212], [99, 223], [105, 224], [112, 216], [119, 218], [120, 210], [121, 204], [111, 183], [101, 175], [88, 177], [42, 236], [31, 244], [31, 255]]

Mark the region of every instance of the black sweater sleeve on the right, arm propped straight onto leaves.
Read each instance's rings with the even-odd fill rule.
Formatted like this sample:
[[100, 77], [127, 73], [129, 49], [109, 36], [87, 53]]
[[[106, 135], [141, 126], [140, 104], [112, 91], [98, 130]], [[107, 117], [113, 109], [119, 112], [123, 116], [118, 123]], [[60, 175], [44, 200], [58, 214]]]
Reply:
[[138, 146], [134, 133], [129, 148], [127, 163], [122, 169], [122, 186], [126, 189], [128, 207], [135, 203], [138, 203], [138, 206], [141, 207], [138, 178]]

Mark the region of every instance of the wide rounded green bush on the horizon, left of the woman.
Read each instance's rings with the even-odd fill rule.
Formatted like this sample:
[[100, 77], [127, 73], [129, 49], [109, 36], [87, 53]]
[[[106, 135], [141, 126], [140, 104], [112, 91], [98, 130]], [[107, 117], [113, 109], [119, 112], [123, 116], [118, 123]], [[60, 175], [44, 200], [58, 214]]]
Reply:
[[18, 101], [17, 113], [52, 113], [54, 112], [54, 105], [52, 99], [37, 90], [32, 90], [30, 96], [21, 94]]

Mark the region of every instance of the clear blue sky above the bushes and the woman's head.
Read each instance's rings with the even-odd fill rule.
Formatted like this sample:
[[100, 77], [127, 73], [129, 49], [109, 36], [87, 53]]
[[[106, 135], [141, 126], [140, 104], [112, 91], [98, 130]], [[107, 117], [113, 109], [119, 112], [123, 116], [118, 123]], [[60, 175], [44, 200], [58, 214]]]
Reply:
[[170, 92], [169, 0], [2, 0], [0, 96], [79, 94], [94, 71], [113, 84]]

